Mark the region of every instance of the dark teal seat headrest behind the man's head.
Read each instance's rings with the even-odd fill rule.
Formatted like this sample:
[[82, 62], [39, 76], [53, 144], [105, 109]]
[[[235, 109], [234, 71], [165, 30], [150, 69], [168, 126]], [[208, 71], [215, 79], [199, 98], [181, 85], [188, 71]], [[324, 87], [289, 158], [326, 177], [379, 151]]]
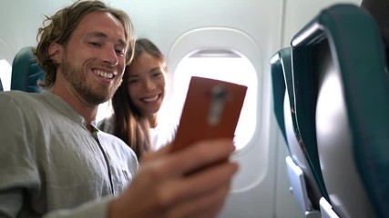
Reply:
[[12, 63], [11, 90], [42, 92], [37, 81], [44, 79], [45, 72], [36, 63], [32, 49], [32, 46], [26, 46], [15, 55]]

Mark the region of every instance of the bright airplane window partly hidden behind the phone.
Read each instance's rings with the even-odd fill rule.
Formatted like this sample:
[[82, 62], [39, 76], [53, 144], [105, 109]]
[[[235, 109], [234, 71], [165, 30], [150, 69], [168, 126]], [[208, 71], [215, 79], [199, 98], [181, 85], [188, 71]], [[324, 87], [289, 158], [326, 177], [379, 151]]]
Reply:
[[192, 75], [248, 86], [234, 139], [237, 150], [248, 144], [256, 124], [255, 90], [258, 81], [251, 62], [245, 56], [230, 50], [200, 50], [188, 54], [179, 62], [173, 77], [174, 101], [178, 114], [181, 113]]

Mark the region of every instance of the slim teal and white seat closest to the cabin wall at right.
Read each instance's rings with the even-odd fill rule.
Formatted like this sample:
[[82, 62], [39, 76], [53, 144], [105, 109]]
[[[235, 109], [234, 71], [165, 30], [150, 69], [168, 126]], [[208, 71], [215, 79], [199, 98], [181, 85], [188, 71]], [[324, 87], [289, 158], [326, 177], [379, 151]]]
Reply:
[[286, 165], [291, 192], [305, 217], [320, 217], [321, 189], [312, 173], [309, 160], [302, 150], [299, 131], [294, 116], [294, 93], [292, 86], [292, 49], [286, 47], [271, 56], [271, 81], [273, 112], [282, 131], [289, 155]]

